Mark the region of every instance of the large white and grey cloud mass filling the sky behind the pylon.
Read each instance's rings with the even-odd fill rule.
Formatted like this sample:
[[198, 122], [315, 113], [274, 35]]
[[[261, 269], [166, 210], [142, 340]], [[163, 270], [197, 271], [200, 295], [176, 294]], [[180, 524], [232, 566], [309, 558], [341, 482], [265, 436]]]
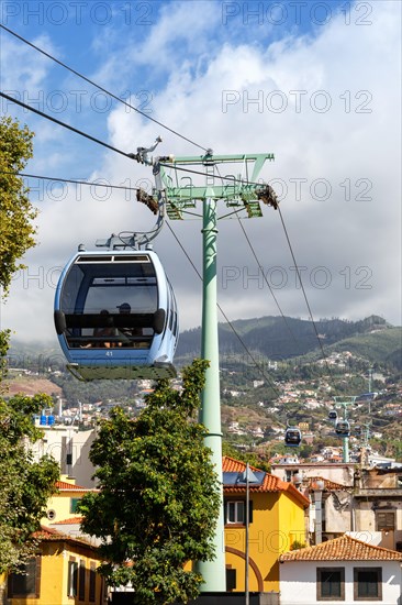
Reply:
[[[215, 23], [221, 18], [211, 14], [210, 3], [200, 16], [201, 4], [186, 3], [181, 12], [169, 12], [167, 6], [139, 52], [150, 68], [155, 57], [165, 57], [164, 68], [171, 65], [166, 86], [152, 99], [152, 117], [213, 147], [215, 154], [275, 152], [276, 162], [261, 176], [276, 179], [277, 191], [286, 194], [281, 209], [298, 264], [306, 267], [302, 276], [314, 317], [358, 319], [378, 314], [400, 323], [398, 3], [377, 3], [372, 24], [367, 26], [346, 25], [344, 15], [333, 18], [316, 37], [288, 36], [265, 47], [261, 41], [257, 46], [226, 40], [198, 70], [197, 52], [182, 61], [169, 31], [180, 31], [186, 44], [198, 35], [201, 45], [209, 20]], [[191, 7], [197, 9], [193, 13]], [[283, 111], [278, 110], [280, 102]], [[108, 129], [111, 144], [126, 152], [147, 146], [161, 134], [164, 142], [155, 154], [202, 153], [123, 106], [111, 112]], [[152, 178], [148, 167], [111, 153], [103, 157], [91, 178], [102, 176], [114, 184], [130, 179], [132, 186]], [[83, 188], [82, 194], [82, 201], [70, 193], [68, 201], [41, 205], [42, 243], [29, 255], [30, 271], [41, 263], [47, 267], [63, 263], [81, 241], [90, 244], [111, 231], [153, 224], [149, 212], [125, 201], [123, 194], [115, 193], [104, 202], [91, 199]], [[264, 207], [264, 215], [244, 222], [247, 234], [265, 272], [279, 280], [275, 294], [284, 315], [306, 317], [278, 212]], [[170, 226], [200, 267], [201, 223], [189, 220]], [[221, 221], [219, 228], [220, 304], [228, 318], [279, 315], [264, 280], [253, 278], [258, 268], [237, 220]], [[199, 324], [200, 282], [167, 228], [155, 248], [177, 289], [181, 326]], [[234, 278], [232, 272], [223, 287], [227, 267], [235, 267], [238, 275], [235, 271]], [[281, 275], [283, 287], [278, 286]], [[25, 332], [26, 315], [21, 308], [31, 300], [31, 290], [24, 292], [21, 284], [15, 282], [4, 318]], [[52, 297], [51, 287], [32, 297], [32, 308], [38, 300], [42, 304], [35, 314], [37, 329], [30, 326], [30, 334], [51, 334]]]

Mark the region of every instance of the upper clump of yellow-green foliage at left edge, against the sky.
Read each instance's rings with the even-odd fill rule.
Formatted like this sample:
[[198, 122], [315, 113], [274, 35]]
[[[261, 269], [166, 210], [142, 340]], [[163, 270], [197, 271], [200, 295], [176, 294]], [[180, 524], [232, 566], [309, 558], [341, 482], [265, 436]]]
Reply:
[[36, 210], [20, 176], [32, 157], [33, 133], [10, 117], [0, 119], [0, 286], [7, 294], [13, 274], [24, 265], [19, 258], [35, 244], [32, 220]]

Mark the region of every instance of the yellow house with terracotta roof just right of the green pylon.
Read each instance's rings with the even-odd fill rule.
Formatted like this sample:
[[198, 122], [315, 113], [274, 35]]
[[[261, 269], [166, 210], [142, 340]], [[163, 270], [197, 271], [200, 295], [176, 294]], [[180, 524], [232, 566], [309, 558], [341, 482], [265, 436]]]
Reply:
[[[230, 457], [222, 462], [227, 590], [244, 591], [246, 464]], [[310, 502], [292, 484], [250, 469], [258, 482], [249, 484], [249, 590], [278, 592], [279, 554], [295, 541], [305, 542]]]

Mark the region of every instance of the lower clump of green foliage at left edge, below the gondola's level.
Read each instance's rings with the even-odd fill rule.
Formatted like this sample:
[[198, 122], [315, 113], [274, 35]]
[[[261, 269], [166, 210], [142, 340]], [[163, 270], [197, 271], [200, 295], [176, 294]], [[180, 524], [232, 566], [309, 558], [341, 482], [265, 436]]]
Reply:
[[0, 399], [0, 573], [32, 557], [37, 541], [32, 532], [40, 527], [48, 497], [59, 476], [56, 462], [44, 457], [35, 462], [26, 441], [41, 435], [32, 415], [48, 407], [51, 397], [16, 395]]

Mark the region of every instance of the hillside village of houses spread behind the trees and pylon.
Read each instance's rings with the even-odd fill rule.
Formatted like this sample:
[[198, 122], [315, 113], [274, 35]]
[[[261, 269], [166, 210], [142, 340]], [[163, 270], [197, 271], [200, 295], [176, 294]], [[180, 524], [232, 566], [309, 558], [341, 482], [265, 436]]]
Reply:
[[[388, 579], [402, 563], [402, 382], [398, 372], [386, 364], [372, 370], [369, 360], [350, 351], [328, 355], [332, 376], [321, 360], [304, 365], [266, 360], [269, 376], [258, 376], [236, 356], [227, 361], [221, 367], [227, 591], [242, 593], [245, 585], [242, 477], [249, 460], [255, 483], [249, 485], [248, 581], [255, 603], [311, 605], [327, 601], [327, 591], [347, 603], [369, 596], [397, 603], [400, 581]], [[85, 604], [105, 598], [120, 603], [127, 593], [108, 588], [98, 578], [98, 541], [82, 534], [76, 507], [82, 495], [97, 491], [88, 454], [99, 420], [116, 405], [135, 418], [146, 406], [153, 383], [131, 383], [118, 398], [99, 400], [93, 400], [93, 389], [91, 400], [83, 386], [82, 400], [71, 400], [70, 381], [59, 367], [9, 370], [11, 392], [31, 392], [41, 384], [55, 404], [35, 418], [44, 437], [34, 455], [52, 453], [62, 471], [58, 494], [42, 519], [41, 573], [43, 579], [52, 573], [46, 571], [47, 557], [63, 556], [63, 561], [71, 561], [68, 569], [65, 563], [59, 568], [70, 596], [78, 595]], [[172, 385], [181, 388], [180, 374]], [[350, 395], [350, 385], [355, 387], [356, 400], [348, 409], [348, 461], [343, 439], [328, 419], [331, 410], [337, 409], [339, 417], [343, 413], [336, 407], [334, 385], [340, 400]], [[300, 429], [299, 448], [286, 446], [288, 426]], [[367, 569], [372, 569], [369, 576]], [[31, 573], [37, 578], [38, 568]], [[300, 591], [299, 576], [310, 576], [312, 582], [303, 584], [295, 601], [291, 595]], [[13, 582], [9, 583], [11, 604], [16, 594]], [[48, 598], [52, 593], [46, 585], [38, 594]]]

